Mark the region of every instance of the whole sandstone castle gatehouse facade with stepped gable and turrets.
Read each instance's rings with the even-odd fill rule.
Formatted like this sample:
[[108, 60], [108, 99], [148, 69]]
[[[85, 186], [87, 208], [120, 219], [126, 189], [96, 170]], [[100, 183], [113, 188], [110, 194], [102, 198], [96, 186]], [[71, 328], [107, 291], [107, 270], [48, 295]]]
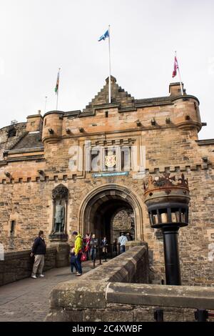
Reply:
[[[4, 250], [29, 249], [39, 229], [49, 242], [54, 223], [52, 192], [62, 184], [68, 189], [68, 242], [73, 229], [107, 234], [111, 240], [113, 214], [131, 210], [135, 238], [148, 243], [150, 282], [161, 283], [163, 239], [149, 224], [143, 179], [163, 172], [180, 177], [183, 172], [191, 197], [190, 224], [179, 232], [183, 285], [212, 285], [214, 140], [198, 140], [203, 126], [198, 99], [186, 93], [181, 96], [178, 83], [170, 84], [168, 96], [151, 99], [134, 99], [114, 77], [111, 85], [111, 104], [106, 80], [82, 112], [33, 114], [26, 123], [0, 130]], [[129, 154], [123, 152], [125, 147]], [[94, 154], [101, 148], [107, 152]], [[115, 152], [109, 154], [110, 149]], [[107, 169], [105, 157], [113, 159], [113, 155], [116, 165]], [[126, 155], [131, 169], [124, 164]], [[94, 158], [96, 171], [91, 169]]]

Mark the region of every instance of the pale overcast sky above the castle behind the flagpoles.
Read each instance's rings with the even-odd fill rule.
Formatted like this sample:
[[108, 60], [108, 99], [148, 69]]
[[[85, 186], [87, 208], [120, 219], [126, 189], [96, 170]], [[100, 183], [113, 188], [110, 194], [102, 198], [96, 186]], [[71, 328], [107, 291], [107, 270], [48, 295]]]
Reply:
[[212, 0], [0, 0], [0, 128], [41, 109], [83, 109], [108, 76], [136, 99], [168, 95], [174, 51], [186, 92], [200, 100], [214, 138], [214, 1]]

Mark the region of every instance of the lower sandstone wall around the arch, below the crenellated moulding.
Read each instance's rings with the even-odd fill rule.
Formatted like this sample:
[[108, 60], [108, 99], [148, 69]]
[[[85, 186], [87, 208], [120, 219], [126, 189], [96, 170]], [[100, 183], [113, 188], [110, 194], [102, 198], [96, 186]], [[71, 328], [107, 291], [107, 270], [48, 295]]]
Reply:
[[[180, 176], [179, 172], [176, 173]], [[185, 172], [190, 186], [190, 224], [179, 231], [181, 270], [184, 284], [198, 283], [210, 285], [213, 283], [213, 260], [208, 259], [209, 246], [213, 242], [213, 171]], [[53, 204], [51, 193], [58, 183], [63, 183], [70, 191], [68, 200], [68, 234], [71, 242], [71, 232], [79, 228], [79, 209], [81, 202], [88, 192], [98, 186], [108, 185], [105, 178], [79, 179], [67, 181], [61, 179], [58, 182], [22, 182], [14, 184], [1, 184], [1, 242], [5, 249], [9, 249], [11, 243], [14, 249], [29, 249], [34, 238], [43, 229], [45, 238], [52, 227]], [[115, 177], [111, 178], [111, 184], [124, 185], [124, 181]], [[198, 185], [206, 185], [199, 188]], [[143, 199], [142, 181], [126, 178], [126, 187], [133, 190]], [[208, 200], [208, 202], [205, 202]], [[150, 250], [151, 267], [153, 275], [151, 280], [160, 282], [164, 279], [163, 240], [157, 237], [151, 229], [146, 207], [143, 202], [143, 239], [148, 242]], [[10, 237], [10, 222], [16, 220], [14, 237]], [[12, 242], [11, 242], [12, 240]]]

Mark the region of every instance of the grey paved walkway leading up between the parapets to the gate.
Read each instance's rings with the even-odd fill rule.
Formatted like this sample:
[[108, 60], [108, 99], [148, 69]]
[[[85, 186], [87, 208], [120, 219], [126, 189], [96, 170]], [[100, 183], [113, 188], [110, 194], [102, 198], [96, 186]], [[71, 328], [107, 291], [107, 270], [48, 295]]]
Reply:
[[[91, 262], [83, 262], [83, 273]], [[44, 321], [49, 312], [49, 295], [59, 282], [73, 280], [70, 267], [54, 268], [44, 278], [27, 278], [0, 287], [0, 322]]]

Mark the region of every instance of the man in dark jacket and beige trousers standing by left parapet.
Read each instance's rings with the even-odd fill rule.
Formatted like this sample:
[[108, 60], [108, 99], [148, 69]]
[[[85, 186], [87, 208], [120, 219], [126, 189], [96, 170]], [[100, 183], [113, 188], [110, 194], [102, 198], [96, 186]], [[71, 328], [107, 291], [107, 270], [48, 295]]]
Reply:
[[33, 247], [31, 249], [31, 257], [34, 256], [34, 266], [31, 273], [31, 277], [36, 279], [38, 277], [44, 277], [42, 274], [44, 267], [44, 256], [46, 254], [46, 242], [44, 241], [44, 231], [39, 231], [39, 236], [34, 240]]

